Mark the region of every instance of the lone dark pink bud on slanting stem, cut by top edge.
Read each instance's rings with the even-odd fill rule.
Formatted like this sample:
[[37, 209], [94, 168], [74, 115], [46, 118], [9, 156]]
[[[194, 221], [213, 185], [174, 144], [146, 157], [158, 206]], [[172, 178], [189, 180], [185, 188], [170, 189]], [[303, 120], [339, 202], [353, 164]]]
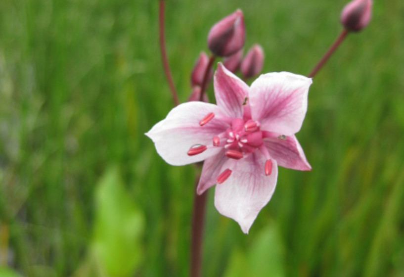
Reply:
[[341, 12], [341, 23], [350, 31], [362, 30], [370, 21], [372, 0], [353, 0]]

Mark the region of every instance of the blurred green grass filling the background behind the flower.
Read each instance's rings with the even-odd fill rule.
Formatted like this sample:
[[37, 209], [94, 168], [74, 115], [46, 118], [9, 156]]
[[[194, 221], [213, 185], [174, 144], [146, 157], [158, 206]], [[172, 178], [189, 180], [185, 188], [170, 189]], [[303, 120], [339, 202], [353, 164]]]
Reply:
[[[345, 3], [168, 0], [180, 99], [210, 27], [236, 8], [246, 47], [265, 50], [264, 72], [307, 74], [341, 30]], [[167, 165], [143, 135], [171, 109], [157, 5], [0, 1], [1, 265], [23, 276], [77, 274], [93, 237], [98, 181], [118, 165], [145, 218], [141, 264], [123, 276], [187, 276], [194, 169]], [[253, 251], [268, 226], [278, 239], [267, 247], [283, 249], [286, 276], [404, 275], [404, 3], [373, 7], [368, 28], [314, 78], [297, 135], [313, 171], [280, 169], [248, 236], [218, 214], [210, 192], [204, 276], [228, 276], [227, 265]]]

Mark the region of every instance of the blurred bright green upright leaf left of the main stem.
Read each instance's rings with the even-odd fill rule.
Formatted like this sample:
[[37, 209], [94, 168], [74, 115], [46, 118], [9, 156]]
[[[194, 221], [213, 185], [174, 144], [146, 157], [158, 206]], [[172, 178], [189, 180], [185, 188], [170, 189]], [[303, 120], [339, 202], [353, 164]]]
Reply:
[[107, 276], [131, 276], [141, 261], [144, 216], [111, 167], [95, 192], [96, 216], [91, 252]]

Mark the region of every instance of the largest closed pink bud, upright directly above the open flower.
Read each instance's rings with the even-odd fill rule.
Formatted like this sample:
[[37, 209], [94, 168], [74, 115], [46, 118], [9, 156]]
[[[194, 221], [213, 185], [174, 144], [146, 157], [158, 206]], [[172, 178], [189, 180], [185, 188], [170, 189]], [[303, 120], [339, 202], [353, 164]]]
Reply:
[[213, 25], [208, 34], [208, 47], [217, 56], [230, 56], [244, 46], [243, 12], [238, 9]]

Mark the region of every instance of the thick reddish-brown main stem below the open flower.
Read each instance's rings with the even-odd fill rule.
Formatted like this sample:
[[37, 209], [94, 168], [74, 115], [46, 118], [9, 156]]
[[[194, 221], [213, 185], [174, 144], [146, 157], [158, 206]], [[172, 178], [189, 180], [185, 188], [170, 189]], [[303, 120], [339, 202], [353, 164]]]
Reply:
[[192, 229], [191, 229], [191, 277], [201, 276], [201, 256], [202, 256], [202, 237], [205, 225], [205, 207], [208, 191], [201, 195], [196, 193], [200, 176], [195, 179], [195, 195], [192, 214]]

